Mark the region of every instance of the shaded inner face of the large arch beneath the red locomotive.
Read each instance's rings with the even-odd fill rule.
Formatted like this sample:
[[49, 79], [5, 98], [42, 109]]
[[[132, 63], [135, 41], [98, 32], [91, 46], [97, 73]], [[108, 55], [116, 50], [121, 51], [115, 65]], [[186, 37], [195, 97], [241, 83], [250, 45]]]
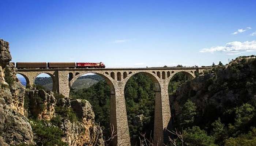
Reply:
[[[85, 74], [90, 74], [90, 73], [97, 74], [97, 75], [101, 76], [106, 81], [108, 86], [110, 87], [110, 119], [109, 119], [109, 123], [110, 123], [110, 126], [113, 126], [113, 129], [115, 130], [114, 132], [116, 132], [116, 130], [117, 130], [116, 112], [118, 112], [118, 111], [116, 111], [116, 91], [114, 89], [114, 85], [113, 85], [112, 81], [108, 77], [106, 77], [105, 75], [103, 75], [101, 73], [96, 73], [96, 72], [79, 73], [76, 76], [74, 76], [74, 78], [72, 78], [72, 80], [69, 82], [69, 94], [71, 93], [70, 91], [71, 91], [71, 88], [72, 88], [72, 85], [74, 84], [74, 82], [76, 80], [78, 80], [79, 77], [84, 76]], [[110, 130], [111, 130], [111, 128], [110, 128]], [[112, 131], [109, 131], [109, 132], [112, 132]], [[117, 142], [117, 137], [114, 137], [113, 143], [116, 143], [116, 142]]]

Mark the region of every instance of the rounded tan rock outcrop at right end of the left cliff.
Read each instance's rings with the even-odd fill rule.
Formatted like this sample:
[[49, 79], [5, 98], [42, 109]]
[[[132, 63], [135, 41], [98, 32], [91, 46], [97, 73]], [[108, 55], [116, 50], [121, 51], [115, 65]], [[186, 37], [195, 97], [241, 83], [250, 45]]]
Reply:
[[[63, 99], [61, 99], [63, 102]], [[69, 146], [103, 146], [102, 130], [94, 123], [94, 112], [91, 104], [87, 100], [64, 101], [65, 105], [71, 105], [79, 121], [71, 123], [70, 120], [64, 119], [61, 129], [65, 133], [63, 138]]]

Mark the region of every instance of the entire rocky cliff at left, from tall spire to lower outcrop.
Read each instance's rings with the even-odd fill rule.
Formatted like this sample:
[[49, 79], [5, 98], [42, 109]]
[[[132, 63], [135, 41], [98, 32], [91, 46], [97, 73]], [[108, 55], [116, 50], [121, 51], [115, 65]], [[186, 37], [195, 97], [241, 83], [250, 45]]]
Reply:
[[1, 146], [104, 145], [102, 130], [94, 123], [88, 101], [70, 101], [42, 89], [25, 89], [10, 61], [9, 43], [0, 40]]

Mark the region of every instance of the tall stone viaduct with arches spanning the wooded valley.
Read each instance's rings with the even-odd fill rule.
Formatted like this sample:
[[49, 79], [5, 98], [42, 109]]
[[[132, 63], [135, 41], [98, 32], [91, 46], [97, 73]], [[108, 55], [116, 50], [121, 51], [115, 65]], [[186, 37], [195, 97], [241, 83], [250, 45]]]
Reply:
[[27, 85], [33, 85], [39, 74], [49, 74], [53, 80], [53, 91], [66, 97], [69, 96], [72, 84], [80, 76], [87, 73], [102, 76], [110, 87], [110, 123], [117, 132], [114, 145], [129, 146], [130, 138], [124, 98], [124, 88], [129, 78], [134, 74], [143, 73], [153, 80], [155, 84], [154, 143], [163, 145], [164, 132], [171, 119], [168, 95], [170, 80], [178, 72], [184, 72], [189, 78], [194, 78], [196, 72], [200, 73], [205, 69], [211, 68], [18, 69], [17, 73], [26, 78]]

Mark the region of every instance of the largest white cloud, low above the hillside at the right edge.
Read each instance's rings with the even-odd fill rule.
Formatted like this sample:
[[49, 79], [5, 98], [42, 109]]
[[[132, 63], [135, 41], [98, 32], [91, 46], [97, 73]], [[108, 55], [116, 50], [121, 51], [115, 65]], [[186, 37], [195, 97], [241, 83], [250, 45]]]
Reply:
[[211, 48], [204, 48], [200, 52], [221, 52], [228, 55], [240, 54], [241, 52], [249, 52], [256, 50], [256, 41], [245, 41], [245, 42], [229, 42], [225, 46], [216, 46]]

